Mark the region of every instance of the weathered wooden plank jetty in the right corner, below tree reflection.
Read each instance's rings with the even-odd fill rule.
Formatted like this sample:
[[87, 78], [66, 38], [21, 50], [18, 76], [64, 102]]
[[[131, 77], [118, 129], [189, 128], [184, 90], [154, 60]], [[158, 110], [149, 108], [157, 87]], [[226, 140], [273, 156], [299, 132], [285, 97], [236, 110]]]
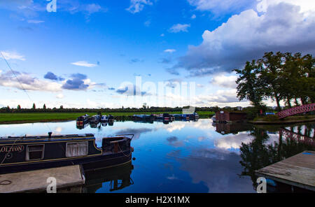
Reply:
[[304, 151], [255, 172], [279, 183], [315, 191], [315, 152]]

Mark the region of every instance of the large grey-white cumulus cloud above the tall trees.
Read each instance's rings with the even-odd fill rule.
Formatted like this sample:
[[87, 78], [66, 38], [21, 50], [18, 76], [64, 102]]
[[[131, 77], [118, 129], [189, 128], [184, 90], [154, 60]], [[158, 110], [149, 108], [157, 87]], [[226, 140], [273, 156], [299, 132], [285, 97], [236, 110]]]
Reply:
[[213, 31], [204, 31], [202, 44], [189, 46], [186, 56], [169, 71], [178, 73], [177, 69], [184, 68], [190, 76], [204, 76], [230, 72], [268, 51], [314, 54], [313, 13], [285, 2], [272, 3], [265, 10], [245, 10]]

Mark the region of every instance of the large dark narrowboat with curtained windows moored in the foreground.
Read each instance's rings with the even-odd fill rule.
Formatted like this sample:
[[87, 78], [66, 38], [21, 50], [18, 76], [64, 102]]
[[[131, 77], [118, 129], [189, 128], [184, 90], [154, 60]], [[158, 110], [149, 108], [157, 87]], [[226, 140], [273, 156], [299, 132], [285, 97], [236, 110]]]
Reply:
[[80, 164], [85, 171], [131, 162], [133, 135], [102, 139], [93, 134], [0, 137], [0, 174]]

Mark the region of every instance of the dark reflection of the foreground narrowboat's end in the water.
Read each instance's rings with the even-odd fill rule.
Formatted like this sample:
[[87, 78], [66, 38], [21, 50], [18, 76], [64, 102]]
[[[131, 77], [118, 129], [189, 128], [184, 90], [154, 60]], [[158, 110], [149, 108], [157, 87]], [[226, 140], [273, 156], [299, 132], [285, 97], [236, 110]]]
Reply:
[[133, 169], [134, 166], [129, 162], [123, 166], [117, 166], [111, 169], [89, 171], [85, 173], [83, 192], [94, 193], [107, 182], [109, 182], [110, 192], [122, 190], [125, 187], [133, 185], [134, 182], [132, 178], [130, 178]]

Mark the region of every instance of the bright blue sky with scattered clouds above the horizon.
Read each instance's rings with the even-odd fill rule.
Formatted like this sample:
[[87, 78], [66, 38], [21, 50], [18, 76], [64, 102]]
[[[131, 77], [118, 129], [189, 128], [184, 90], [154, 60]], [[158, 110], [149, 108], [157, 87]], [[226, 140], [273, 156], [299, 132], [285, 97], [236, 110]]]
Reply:
[[0, 51], [19, 80], [0, 56], [0, 106], [248, 106], [232, 69], [267, 51], [315, 50], [309, 0], [48, 3], [0, 1]]

